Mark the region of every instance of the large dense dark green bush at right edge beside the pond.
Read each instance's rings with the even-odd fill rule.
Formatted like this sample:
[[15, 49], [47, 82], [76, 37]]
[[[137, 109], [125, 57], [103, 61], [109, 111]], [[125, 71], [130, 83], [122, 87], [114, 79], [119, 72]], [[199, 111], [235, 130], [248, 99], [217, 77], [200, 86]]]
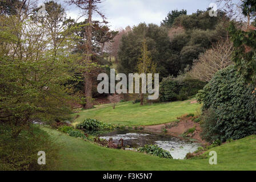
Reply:
[[254, 86], [247, 84], [233, 65], [217, 72], [197, 94], [197, 100], [203, 102], [203, 138], [225, 142], [256, 134], [253, 91]]

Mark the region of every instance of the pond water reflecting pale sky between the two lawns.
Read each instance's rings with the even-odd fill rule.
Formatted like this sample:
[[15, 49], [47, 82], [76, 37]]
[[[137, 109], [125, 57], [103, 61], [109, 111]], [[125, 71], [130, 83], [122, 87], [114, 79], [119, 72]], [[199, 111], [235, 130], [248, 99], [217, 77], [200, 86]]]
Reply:
[[[101, 134], [99, 137], [106, 140], [113, 138], [115, 144], [118, 144], [119, 139], [122, 138], [124, 146], [129, 145], [133, 148], [138, 148], [145, 144], [157, 144], [163, 150], [169, 151], [173, 159], [184, 159], [187, 153], [196, 151], [200, 146], [199, 143], [182, 140], [169, 135], [134, 133], [129, 130], [115, 130], [107, 134]], [[131, 148], [126, 149], [132, 150]]]

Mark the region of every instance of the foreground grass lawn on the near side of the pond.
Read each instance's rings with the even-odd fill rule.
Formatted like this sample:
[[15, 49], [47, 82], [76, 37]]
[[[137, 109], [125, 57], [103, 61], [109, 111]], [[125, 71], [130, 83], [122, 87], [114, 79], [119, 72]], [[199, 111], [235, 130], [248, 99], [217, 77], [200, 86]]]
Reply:
[[218, 164], [210, 165], [209, 159], [161, 159], [97, 146], [56, 130], [43, 130], [61, 145], [61, 170], [256, 170], [256, 135], [211, 148], [218, 154]]

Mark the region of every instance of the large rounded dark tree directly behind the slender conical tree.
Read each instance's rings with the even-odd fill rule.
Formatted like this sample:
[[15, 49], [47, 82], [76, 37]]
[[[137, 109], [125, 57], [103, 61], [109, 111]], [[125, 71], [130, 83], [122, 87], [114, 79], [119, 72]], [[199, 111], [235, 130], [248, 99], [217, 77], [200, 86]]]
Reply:
[[125, 74], [137, 72], [143, 39], [147, 40], [147, 49], [151, 53], [153, 63], [158, 65], [156, 72], [159, 73], [160, 79], [175, 71], [171, 64], [173, 51], [170, 49], [167, 28], [141, 23], [122, 36], [118, 52], [118, 72]]

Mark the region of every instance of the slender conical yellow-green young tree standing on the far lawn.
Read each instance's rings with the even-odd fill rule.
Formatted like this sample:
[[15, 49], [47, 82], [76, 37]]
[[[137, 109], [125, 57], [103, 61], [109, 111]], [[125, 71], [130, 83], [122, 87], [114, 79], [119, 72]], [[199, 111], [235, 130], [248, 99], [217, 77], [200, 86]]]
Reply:
[[[150, 52], [147, 50], [147, 44], [146, 44], [146, 39], [143, 39], [142, 46], [141, 46], [141, 56], [139, 57], [138, 61], [138, 73], [155, 73], [156, 65], [153, 63], [151, 60]], [[145, 81], [145, 80], [144, 80]], [[146, 84], [143, 83], [142, 79], [142, 84], [141, 84], [141, 105], [143, 105], [143, 93], [142, 93], [142, 85]]]

